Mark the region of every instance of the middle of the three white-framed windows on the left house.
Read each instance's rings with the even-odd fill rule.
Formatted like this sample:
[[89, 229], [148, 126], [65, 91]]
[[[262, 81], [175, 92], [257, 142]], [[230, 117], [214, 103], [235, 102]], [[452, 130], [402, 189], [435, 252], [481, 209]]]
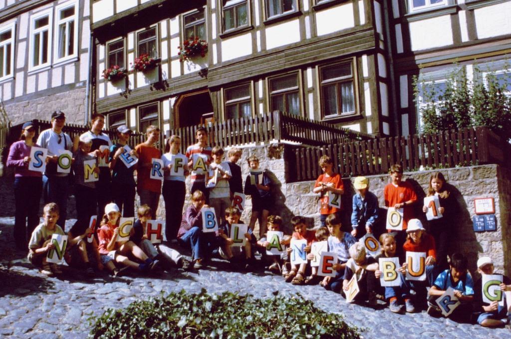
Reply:
[[52, 47], [52, 12], [33, 16], [30, 21], [31, 38], [31, 68], [50, 65], [50, 54]]

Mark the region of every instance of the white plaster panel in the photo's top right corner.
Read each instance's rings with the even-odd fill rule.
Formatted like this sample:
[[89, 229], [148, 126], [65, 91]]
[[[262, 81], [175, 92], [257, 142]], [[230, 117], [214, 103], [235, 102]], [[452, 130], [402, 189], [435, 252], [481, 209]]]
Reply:
[[511, 2], [474, 10], [479, 39], [511, 34]]

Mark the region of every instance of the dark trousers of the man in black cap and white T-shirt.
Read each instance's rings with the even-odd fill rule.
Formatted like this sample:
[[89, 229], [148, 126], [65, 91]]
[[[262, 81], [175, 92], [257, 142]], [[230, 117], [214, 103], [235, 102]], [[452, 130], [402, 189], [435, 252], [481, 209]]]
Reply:
[[42, 177], [42, 192], [44, 204], [56, 203], [59, 206], [59, 220], [57, 225], [65, 228], [67, 219], [67, 200], [69, 198], [69, 176], [58, 177], [44, 175]]

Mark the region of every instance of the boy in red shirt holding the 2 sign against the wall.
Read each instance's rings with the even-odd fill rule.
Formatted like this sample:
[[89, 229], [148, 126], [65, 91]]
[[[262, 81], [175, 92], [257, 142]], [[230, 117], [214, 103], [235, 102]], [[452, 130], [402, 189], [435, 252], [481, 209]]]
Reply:
[[328, 155], [323, 155], [319, 158], [319, 167], [321, 167], [323, 174], [321, 174], [314, 184], [314, 193], [319, 193], [321, 207], [319, 209], [319, 220], [321, 221], [321, 227], [326, 227], [325, 221], [327, 216], [330, 214], [338, 214], [340, 208], [330, 206], [328, 204], [328, 192], [332, 192], [339, 195], [344, 193], [344, 185], [342, 184], [342, 178], [339, 173], [333, 171], [333, 161]]

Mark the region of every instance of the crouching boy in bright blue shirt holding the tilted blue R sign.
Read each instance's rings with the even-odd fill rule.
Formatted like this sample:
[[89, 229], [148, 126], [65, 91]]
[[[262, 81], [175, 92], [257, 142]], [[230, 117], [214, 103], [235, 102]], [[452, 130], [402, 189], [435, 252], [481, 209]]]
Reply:
[[474, 300], [474, 283], [467, 270], [467, 258], [461, 253], [454, 253], [451, 256], [449, 267], [449, 270], [445, 270], [438, 275], [433, 286], [429, 289], [428, 314], [432, 317], [442, 315], [435, 301], [451, 287], [454, 289], [454, 296], [458, 298], [461, 305], [451, 313], [450, 318], [466, 321], [472, 311], [472, 301]]

